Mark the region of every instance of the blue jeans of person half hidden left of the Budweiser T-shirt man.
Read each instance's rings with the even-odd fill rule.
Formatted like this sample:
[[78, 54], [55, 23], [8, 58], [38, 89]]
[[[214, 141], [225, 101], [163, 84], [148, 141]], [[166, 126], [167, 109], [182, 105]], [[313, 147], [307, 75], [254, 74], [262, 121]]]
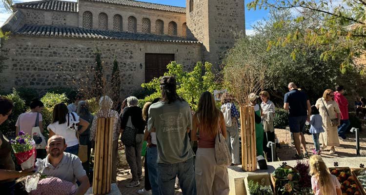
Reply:
[[147, 148], [147, 169], [149, 171], [149, 180], [151, 185], [152, 195], [159, 195], [159, 184], [158, 184], [158, 148], [149, 147]]

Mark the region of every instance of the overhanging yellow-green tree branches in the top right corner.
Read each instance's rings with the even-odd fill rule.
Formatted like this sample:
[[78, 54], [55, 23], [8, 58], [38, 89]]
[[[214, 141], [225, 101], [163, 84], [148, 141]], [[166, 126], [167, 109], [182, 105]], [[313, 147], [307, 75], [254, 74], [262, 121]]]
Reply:
[[[305, 31], [293, 31], [271, 39], [268, 41], [270, 48], [302, 40], [307, 46], [320, 47], [320, 59], [324, 61], [346, 54], [346, 58], [338, 62], [342, 73], [354, 67], [355, 57], [365, 54], [365, 0], [252, 0], [247, 7], [254, 10], [275, 8], [298, 11], [298, 15], [291, 20], [305, 24], [310, 20], [314, 24], [306, 26]], [[276, 27], [283, 28], [284, 22], [278, 21]], [[292, 58], [304, 51], [304, 48], [294, 48]]]

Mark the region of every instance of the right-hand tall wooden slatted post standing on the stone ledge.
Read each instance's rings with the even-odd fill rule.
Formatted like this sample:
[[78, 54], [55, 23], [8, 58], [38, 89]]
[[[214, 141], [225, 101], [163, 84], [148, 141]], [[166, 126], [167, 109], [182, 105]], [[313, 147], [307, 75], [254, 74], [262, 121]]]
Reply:
[[240, 122], [242, 124], [242, 169], [254, 172], [257, 170], [257, 149], [255, 137], [254, 107], [240, 107]]

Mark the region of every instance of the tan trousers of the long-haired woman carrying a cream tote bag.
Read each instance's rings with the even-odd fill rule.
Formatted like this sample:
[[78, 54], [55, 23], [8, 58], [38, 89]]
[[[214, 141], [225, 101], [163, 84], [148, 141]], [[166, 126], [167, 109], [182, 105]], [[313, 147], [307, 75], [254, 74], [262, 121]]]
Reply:
[[229, 194], [227, 167], [216, 164], [214, 148], [198, 148], [195, 174], [197, 195]]

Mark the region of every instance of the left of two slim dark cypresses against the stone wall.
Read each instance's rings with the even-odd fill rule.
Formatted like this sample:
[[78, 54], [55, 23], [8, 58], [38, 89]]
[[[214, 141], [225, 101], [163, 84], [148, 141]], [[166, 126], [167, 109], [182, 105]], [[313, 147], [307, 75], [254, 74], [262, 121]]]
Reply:
[[95, 87], [95, 95], [99, 98], [103, 95], [103, 67], [102, 67], [102, 59], [101, 59], [101, 51], [99, 50], [98, 46], [95, 47], [95, 75], [94, 75], [94, 83], [93, 86]]

